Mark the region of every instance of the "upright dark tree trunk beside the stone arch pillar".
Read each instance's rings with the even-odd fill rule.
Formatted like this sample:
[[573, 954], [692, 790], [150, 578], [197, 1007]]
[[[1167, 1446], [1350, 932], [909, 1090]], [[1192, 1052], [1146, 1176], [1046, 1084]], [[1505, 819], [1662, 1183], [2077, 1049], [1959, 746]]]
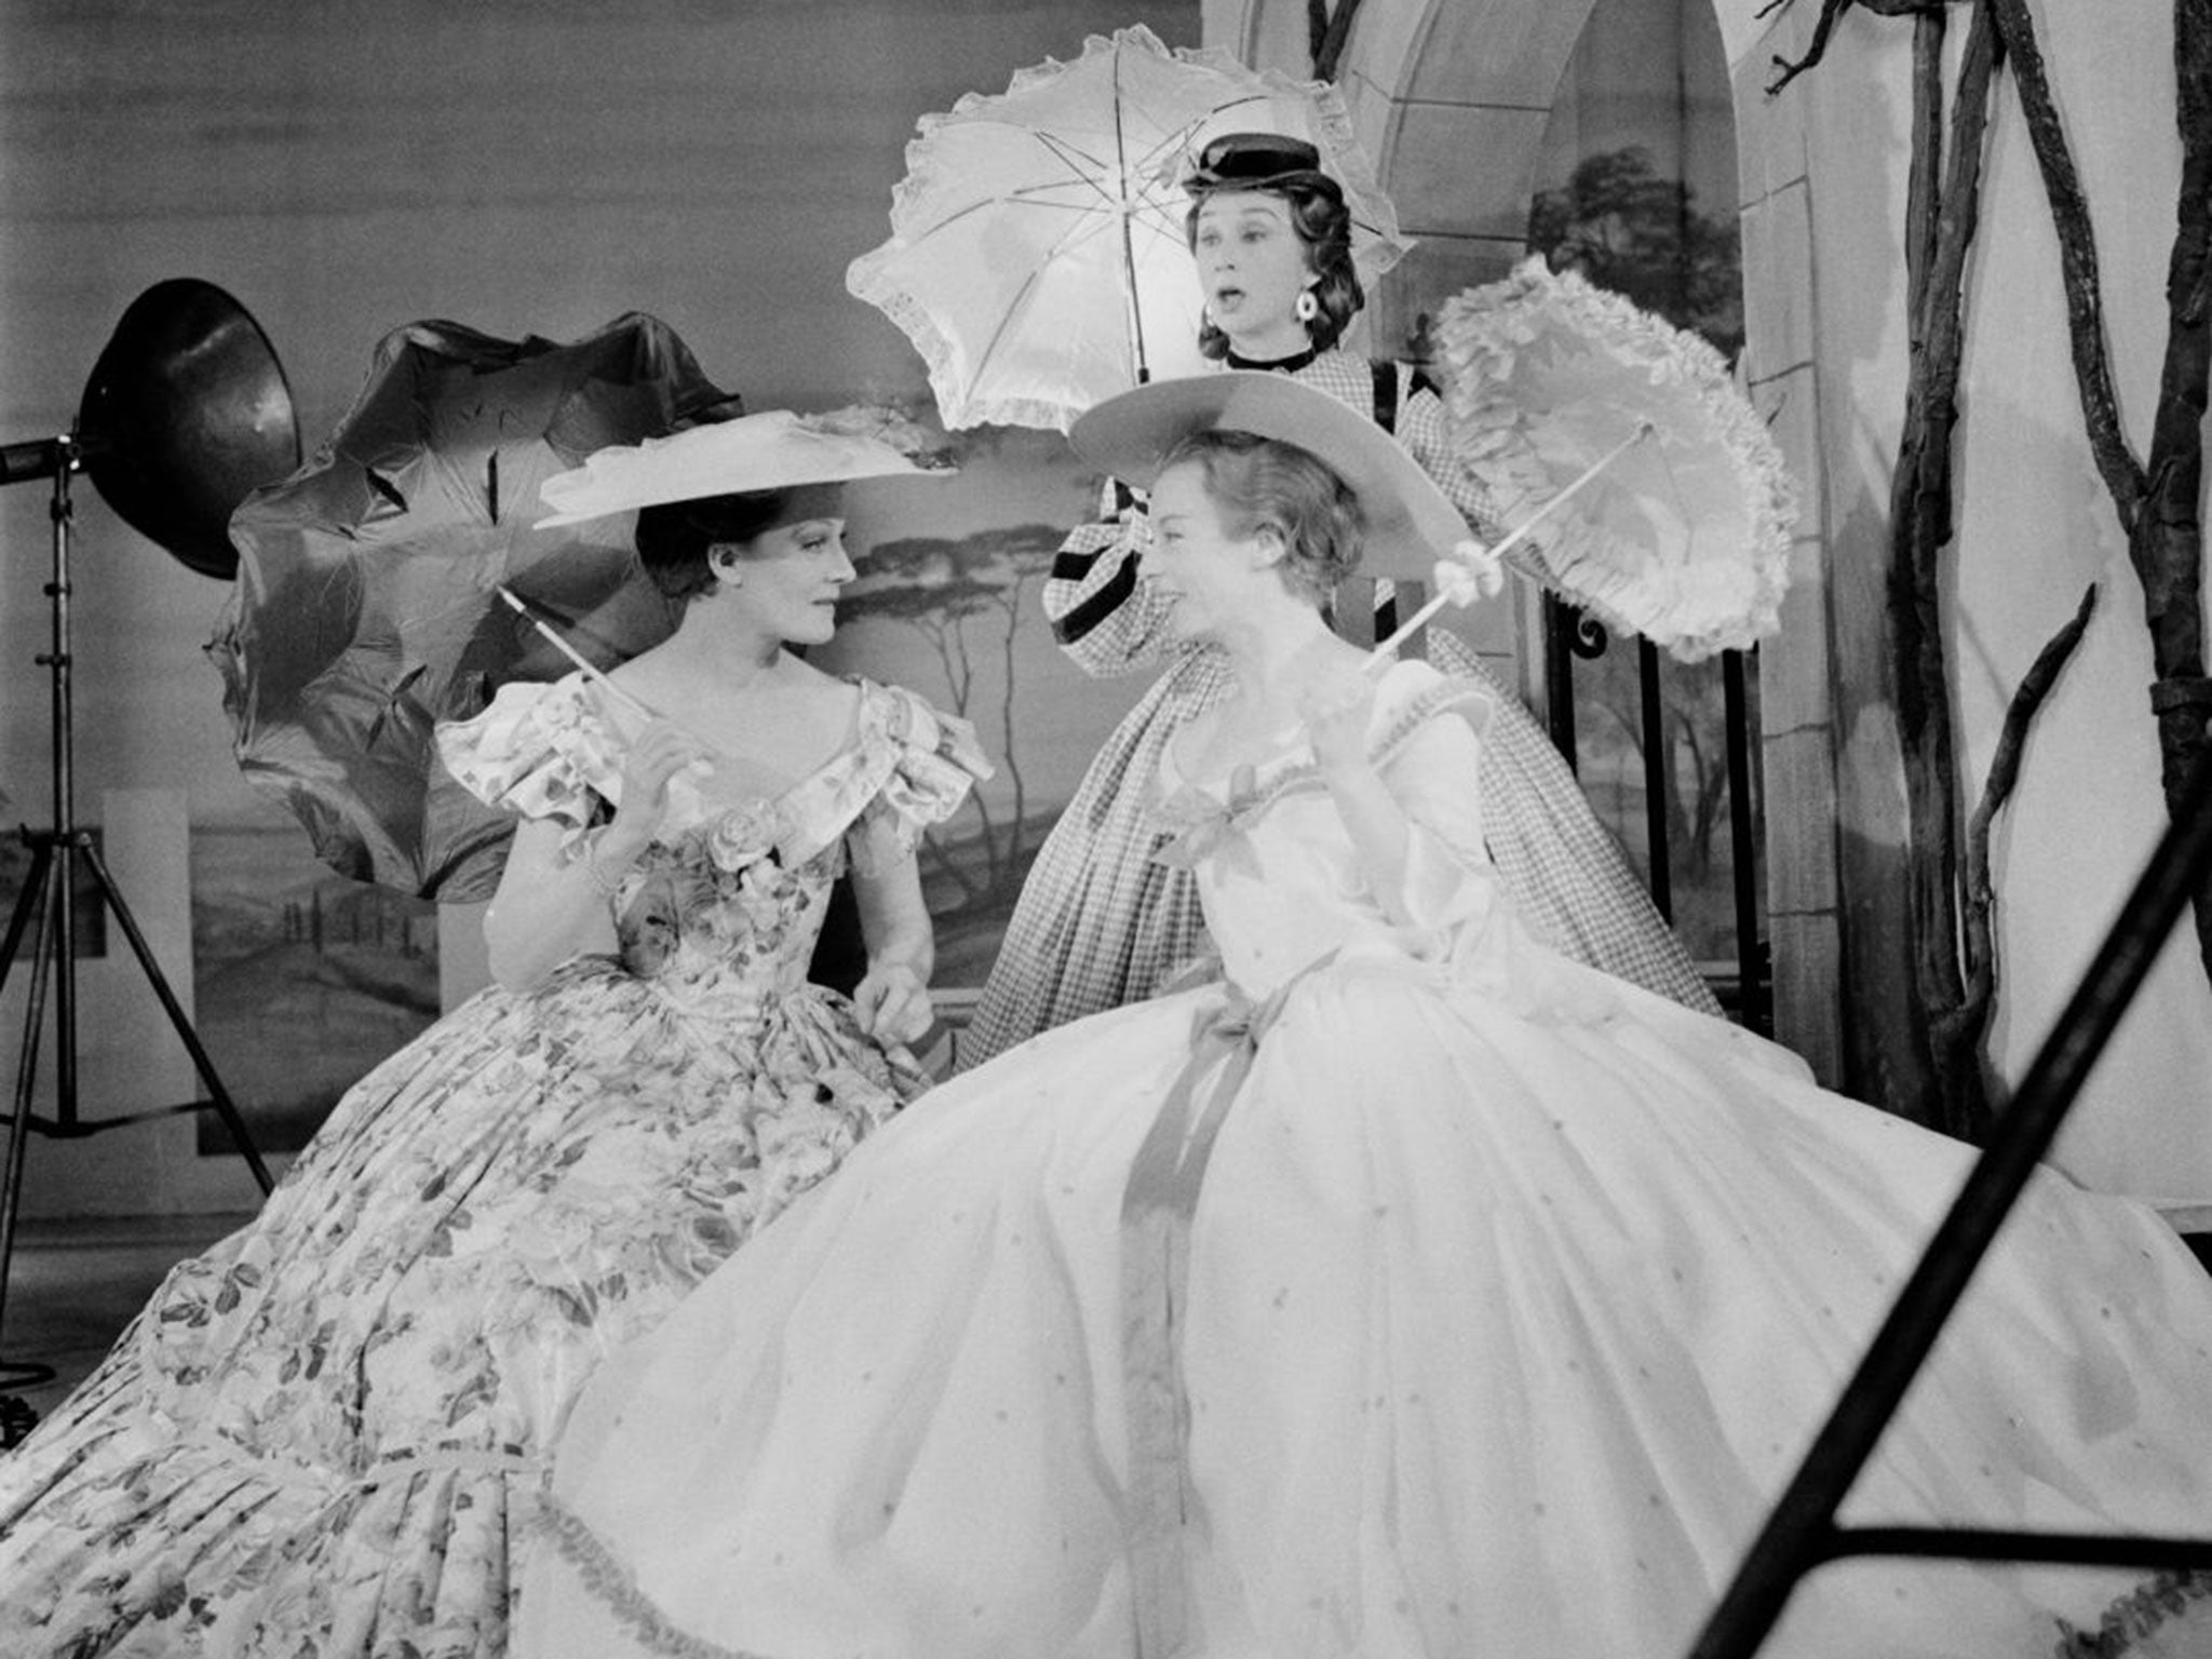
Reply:
[[[1940, 11], [1913, 20], [1918, 100], [1942, 100]], [[1982, 1062], [1958, 1011], [1964, 982], [1958, 960], [1960, 787], [1951, 748], [1951, 686], [1944, 668], [1942, 555], [1951, 544], [1951, 436], [1958, 427], [1958, 376], [1964, 341], [1966, 252], [1980, 223], [1982, 148], [2000, 42], [1986, 4], [1973, 9], [1951, 108], [1951, 150], [1938, 199], [1924, 201], [1933, 226], [1911, 226], [1907, 241], [1929, 246], [1916, 334], [1920, 356], [1905, 385], [1905, 429], [1889, 482], [1889, 619], [1898, 644], [1898, 741], [1905, 761], [1909, 847], [1905, 860], [1913, 960], [1913, 1009], [1936, 1088], [1931, 1121], [1980, 1139], [1989, 1126]]]

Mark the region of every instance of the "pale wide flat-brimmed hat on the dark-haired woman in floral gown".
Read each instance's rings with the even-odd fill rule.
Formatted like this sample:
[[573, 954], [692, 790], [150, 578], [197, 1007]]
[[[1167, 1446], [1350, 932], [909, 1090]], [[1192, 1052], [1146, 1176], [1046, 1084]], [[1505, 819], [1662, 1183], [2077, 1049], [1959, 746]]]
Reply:
[[768, 409], [586, 456], [582, 467], [553, 473], [540, 484], [553, 515], [538, 520], [538, 529], [701, 495], [905, 473], [949, 478], [951, 469], [918, 467], [911, 456], [869, 434], [838, 431], [790, 409]]

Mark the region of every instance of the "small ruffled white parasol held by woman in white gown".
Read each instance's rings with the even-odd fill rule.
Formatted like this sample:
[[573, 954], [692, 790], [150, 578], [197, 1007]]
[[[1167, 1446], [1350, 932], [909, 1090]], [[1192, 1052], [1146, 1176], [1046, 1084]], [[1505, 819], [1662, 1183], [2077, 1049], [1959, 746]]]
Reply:
[[1520, 566], [1683, 661], [1776, 630], [1796, 489], [1712, 345], [1542, 259], [1449, 299], [1436, 343], [1460, 458], [1509, 533], [1544, 520]]

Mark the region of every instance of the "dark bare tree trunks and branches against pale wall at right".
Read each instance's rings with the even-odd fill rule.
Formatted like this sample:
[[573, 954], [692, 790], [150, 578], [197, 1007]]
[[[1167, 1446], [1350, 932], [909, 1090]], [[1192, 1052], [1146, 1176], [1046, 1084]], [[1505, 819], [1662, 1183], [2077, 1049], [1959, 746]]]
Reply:
[[[1783, 0], [1787, 4], [1787, 0]], [[1991, 1119], [1982, 1040], [1995, 995], [1989, 832], [2011, 796], [2028, 723], [2051, 692], [2097, 588], [2022, 677], [1991, 757], [1982, 801], [1960, 823], [1958, 761], [1951, 752], [1951, 692], [1944, 672], [1942, 553], [1953, 540], [1951, 434], [1964, 352], [1964, 270], [1980, 217], [1982, 153], [2000, 66], [2011, 66], [2028, 139], [2059, 237], [2075, 378], [2090, 453], [2128, 535], [2143, 588], [2157, 681], [2161, 787], [2179, 814], [2192, 772], [2212, 752], [2205, 717], [2212, 679], [2203, 641], [2203, 411], [2212, 378], [2212, 0], [2174, 4], [2181, 192], [2168, 263], [2168, 336], [2148, 460], [2137, 460], [2119, 425], [2088, 199], [2075, 173], [2042, 46], [2026, 0], [1973, 0], [1944, 137], [1947, 0], [1823, 0], [1805, 58], [1776, 60], [1781, 93], [1820, 62], [1829, 31], [1854, 4], [1907, 15], [1913, 27], [1913, 153], [1905, 261], [1909, 374], [1905, 431], [1889, 500], [1889, 617], [1898, 644], [1898, 728], [1911, 834], [1909, 883], [1916, 1006], [1927, 1011], [1924, 1066], [1940, 1128], [1980, 1137]], [[2212, 880], [2194, 891], [2197, 945], [2212, 975]]]

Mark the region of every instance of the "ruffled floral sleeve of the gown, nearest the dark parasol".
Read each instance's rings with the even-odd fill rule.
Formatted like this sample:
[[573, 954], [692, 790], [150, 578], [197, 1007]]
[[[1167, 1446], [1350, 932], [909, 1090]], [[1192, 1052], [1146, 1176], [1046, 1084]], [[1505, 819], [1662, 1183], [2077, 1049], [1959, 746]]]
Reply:
[[524, 818], [588, 830], [622, 799], [615, 732], [582, 675], [515, 681], [476, 719], [438, 726], [438, 757], [469, 794]]

